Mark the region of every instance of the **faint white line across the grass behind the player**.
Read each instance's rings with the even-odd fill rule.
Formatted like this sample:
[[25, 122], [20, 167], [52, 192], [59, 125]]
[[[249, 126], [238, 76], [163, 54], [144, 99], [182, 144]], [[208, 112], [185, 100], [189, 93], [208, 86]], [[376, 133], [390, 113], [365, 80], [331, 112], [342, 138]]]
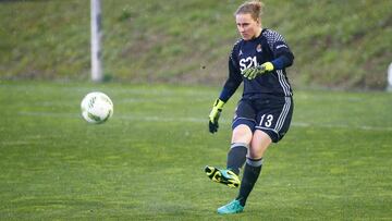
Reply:
[[[54, 112], [29, 112], [21, 111], [20, 115], [30, 115], [40, 118], [82, 118], [79, 114], [74, 113], [54, 113]], [[131, 120], [131, 121], [147, 121], [147, 122], [189, 122], [189, 123], [208, 123], [208, 118], [160, 118], [154, 115], [115, 115], [115, 119]], [[222, 119], [222, 124], [231, 124], [230, 120]], [[317, 124], [307, 122], [292, 122], [292, 126], [297, 127], [321, 127], [321, 128], [351, 128], [351, 130], [363, 130], [363, 131], [392, 131], [392, 126], [368, 126], [368, 125], [348, 125], [348, 124]]]

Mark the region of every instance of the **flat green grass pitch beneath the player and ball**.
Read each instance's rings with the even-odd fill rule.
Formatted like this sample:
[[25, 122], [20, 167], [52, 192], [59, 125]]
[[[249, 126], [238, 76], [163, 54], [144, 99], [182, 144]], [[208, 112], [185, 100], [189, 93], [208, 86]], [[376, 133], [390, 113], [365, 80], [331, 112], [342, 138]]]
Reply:
[[[79, 113], [91, 90], [114, 102], [102, 125]], [[203, 168], [224, 165], [237, 98], [210, 135], [218, 90], [0, 82], [0, 220], [392, 219], [391, 95], [339, 91], [296, 91], [245, 212], [218, 216], [236, 191]]]

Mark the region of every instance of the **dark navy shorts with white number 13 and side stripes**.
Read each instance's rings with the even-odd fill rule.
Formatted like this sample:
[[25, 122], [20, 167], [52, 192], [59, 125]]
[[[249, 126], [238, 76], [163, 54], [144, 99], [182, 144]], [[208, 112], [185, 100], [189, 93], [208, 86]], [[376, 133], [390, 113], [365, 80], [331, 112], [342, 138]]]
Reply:
[[235, 109], [232, 128], [245, 124], [253, 132], [260, 130], [267, 133], [273, 143], [278, 143], [289, 131], [293, 109], [292, 97], [242, 98]]

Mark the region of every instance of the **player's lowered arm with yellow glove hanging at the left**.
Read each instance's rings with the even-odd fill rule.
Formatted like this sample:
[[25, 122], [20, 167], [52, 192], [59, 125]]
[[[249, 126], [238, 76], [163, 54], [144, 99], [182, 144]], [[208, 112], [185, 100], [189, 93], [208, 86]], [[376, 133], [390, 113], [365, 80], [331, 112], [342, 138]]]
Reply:
[[220, 113], [222, 112], [224, 103], [228, 102], [228, 100], [234, 95], [235, 90], [238, 88], [238, 86], [242, 83], [242, 77], [241, 77], [240, 73], [241, 73], [241, 71], [240, 71], [240, 69], [236, 67], [233, 57], [230, 57], [230, 59], [229, 59], [229, 78], [224, 83], [223, 89], [222, 89], [219, 98], [213, 102], [212, 110], [211, 110], [210, 114], [208, 115], [209, 132], [212, 134], [218, 132], [218, 127], [219, 127], [218, 120], [219, 120]]

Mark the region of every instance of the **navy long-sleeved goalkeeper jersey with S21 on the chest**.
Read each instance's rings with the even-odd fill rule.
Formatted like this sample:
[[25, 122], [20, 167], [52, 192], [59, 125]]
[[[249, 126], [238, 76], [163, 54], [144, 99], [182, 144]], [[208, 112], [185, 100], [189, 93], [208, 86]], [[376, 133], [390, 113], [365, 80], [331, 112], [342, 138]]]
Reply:
[[[229, 78], [220, 99], [228, 101], [237, 87], [244, 82], [244, 98], [257, 98], [262, 95], [291, 97], [293, 95], [285, 67], [292, 65], [294, 56], [284, 38], [277, 32], [265, 28], [252, 40], [240, 39], [235, 42], [229, 58]], [[272, 72], [247, 79], [242, 75], [245, 69], [271, 62]]]

